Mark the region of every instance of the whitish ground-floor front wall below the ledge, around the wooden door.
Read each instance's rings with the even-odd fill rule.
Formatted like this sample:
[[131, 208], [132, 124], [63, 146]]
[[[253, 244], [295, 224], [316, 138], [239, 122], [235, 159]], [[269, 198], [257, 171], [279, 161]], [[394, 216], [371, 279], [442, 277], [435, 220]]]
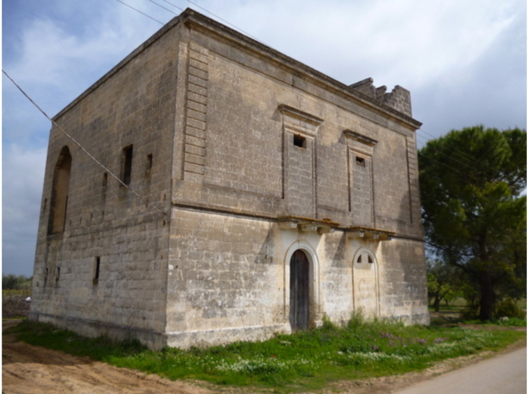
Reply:
[[291, 330], [290, 258], [309, 261], [309, 323], [353, 312], [428, 323], [422, 245], [320, 234], [262, 218], [174, 209], [167, 344], [264, 340]]

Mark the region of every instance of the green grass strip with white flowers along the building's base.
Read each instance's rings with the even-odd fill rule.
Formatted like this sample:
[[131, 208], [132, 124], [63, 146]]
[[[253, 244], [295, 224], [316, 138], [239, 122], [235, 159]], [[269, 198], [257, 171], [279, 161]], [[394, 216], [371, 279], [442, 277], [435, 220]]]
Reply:
[[29, 344], [169, 379], [200, 379], [221, 385], [274, 388], [276, 392], [314, 390], [341, 379], [419, 371], [446, 358], [502, 349], [526, 335], [514, 330], [366, 322], [362, 316], [353, 316], [343, 327], [326, 321], [318, 329], [276, 335], [264, 342], [149, 351], [136, 340], [115, 343], [105, 337], [87, 339], [42, 323], [24, 321], [10, 331]]

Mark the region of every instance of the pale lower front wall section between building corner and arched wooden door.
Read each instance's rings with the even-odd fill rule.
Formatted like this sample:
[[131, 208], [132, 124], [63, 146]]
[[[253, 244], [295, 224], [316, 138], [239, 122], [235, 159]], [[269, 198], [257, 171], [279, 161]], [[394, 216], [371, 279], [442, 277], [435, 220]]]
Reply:
[[256, 340], [286, 330], [284, 266], [271, 223], [174, 209], [167, 279], [170, 346]]

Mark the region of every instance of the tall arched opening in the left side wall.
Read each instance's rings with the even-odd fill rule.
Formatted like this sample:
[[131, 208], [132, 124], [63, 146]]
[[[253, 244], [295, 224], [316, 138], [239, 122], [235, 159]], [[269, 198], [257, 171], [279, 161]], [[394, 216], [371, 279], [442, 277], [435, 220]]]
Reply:
[[57, 234], [64, 231], [64, 224], [66, 224], [66, 208], [68, 207], [68, 187], [70, 184], [71, 168], [72, 156], [70, 155], [70, 149], [65, 146], [61, 149], [53, 173], [48, 234]]

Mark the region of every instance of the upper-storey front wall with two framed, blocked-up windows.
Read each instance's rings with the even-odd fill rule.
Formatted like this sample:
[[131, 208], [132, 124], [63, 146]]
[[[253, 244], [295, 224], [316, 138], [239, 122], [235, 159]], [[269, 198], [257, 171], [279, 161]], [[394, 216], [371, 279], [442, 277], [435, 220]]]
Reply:
[[[193, 177], [177, 174], [174, 203], [422, 237], [412, 128], [262, 54], [188, 29], [182, 136], [200, 126], [201, 138], [191, 146], [185, 137], [183, 166], [191, 168], [191, 156], [201, 164]], [[200, 123], [189, 107], [199, 82]], [[374, 143], [359, 148], [350, 132]], [[181, 166], [175, 153], [174, 167]]]

